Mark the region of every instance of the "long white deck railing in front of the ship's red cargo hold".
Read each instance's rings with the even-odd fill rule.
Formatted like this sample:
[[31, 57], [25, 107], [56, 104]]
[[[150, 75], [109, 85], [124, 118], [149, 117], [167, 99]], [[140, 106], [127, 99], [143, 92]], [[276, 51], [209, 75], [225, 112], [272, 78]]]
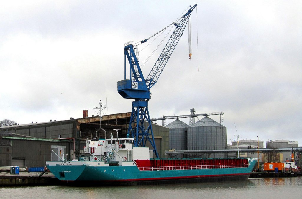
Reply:
[[248, 164], [231, 165], [202, 165], [202, 166], [141, 166], [140, 171], [166, 171], [166, 170], [193, 170], [193, 169], [229, 169], [229, 168], [248, 168]]

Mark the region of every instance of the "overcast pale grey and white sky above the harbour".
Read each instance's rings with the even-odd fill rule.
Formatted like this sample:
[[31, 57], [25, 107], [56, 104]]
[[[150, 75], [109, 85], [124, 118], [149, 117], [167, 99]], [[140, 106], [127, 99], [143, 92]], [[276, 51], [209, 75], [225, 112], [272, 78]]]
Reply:
[[[192, 60], [186, 29], [150, 90], [150, 117], [223, 111], [228, 143], [237, 129], [239, 139], [301, 146], [299, 0], [1, 1], [0, 120], [66, 120], [85, 109], [91, 116], [100, 99], [106, 114], [130, 112], [131, 100], [117, 92], [124, 43], [148, 38], [194, 4]], [[139, 45], [141, 64], [160, 37]], [[145, 78], [162, 49], [142, 67]]]

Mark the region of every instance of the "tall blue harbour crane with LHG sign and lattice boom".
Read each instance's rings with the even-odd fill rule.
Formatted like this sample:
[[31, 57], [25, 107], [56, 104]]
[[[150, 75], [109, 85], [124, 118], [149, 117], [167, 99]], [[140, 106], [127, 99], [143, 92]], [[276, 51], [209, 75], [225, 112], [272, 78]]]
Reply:
[[[167, 64], [172, 52], [174, 51], [180, 37], [182, 36], [185, 27], [190, 18], [191, 12], [196, 8], [197, 4], [190, 6], [190, 9], [185, 15], [176, 20], [179, 23], [174, 23], [175, 30], [173, 31], [169, 41], [165, 45], [159, 58], [156, 60], [151, 72], [145, 79], [140, 68], [139, 60], [135, 53], [135, 47], [133, 43], [127, 43], [124, 47], [125, 52], [125, 73], [124, 80], [117, 82], [117, 90], [120, 95], [125, 99], [134, 99], [132, 102], [132, 113], [130, 117], [130, 123], [128, 128], [128, 134], [134, 138], [135, 147], [145, 147], [149, 142], [152, 150], [158, 158], [156, 151], [156, 145], [153, 136], [153, 130], [151, 126], [151, 120], [148, 110], [148, 102], [151, 98], [150, 89], [156, 84], [162, 70]], [[154, 36], [154, 35], [153, 35]], [[151, 36], [152, 37], [152, 36]], [[148, 39], [150, 39], [149, 37]], [[146, 42], [148, 39], [144, 39], [141, 43]], [[127, 72], [127, 64], [129, 64], [130, 70]], [[127, 79], [127, 73], [130, 79]], [[148, 124], [144, 126], [144, 121]]]

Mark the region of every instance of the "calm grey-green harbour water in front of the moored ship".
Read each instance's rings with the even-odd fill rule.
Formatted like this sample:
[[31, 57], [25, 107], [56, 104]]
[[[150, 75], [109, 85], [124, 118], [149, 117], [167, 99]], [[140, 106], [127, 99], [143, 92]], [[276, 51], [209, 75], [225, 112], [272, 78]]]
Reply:
[[118, 187], [0, 187], [0, 198], [300, 198], [302, 177]]

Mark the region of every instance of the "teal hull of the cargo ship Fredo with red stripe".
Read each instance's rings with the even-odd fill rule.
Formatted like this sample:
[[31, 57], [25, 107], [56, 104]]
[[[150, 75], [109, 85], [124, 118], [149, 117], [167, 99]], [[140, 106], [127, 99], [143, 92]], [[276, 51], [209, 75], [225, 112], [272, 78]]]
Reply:
[[255, 163], [245, 168], [141, 171], [134, 162], [128, 162], [128, 166], [108, 166], [101, 161], [88, 161], [70, 162], [69, 165], [47, 162], [47, 168], [69, 185], [87, 186], [89, 182], [89, 185], [108, 186], [247, 180]]

